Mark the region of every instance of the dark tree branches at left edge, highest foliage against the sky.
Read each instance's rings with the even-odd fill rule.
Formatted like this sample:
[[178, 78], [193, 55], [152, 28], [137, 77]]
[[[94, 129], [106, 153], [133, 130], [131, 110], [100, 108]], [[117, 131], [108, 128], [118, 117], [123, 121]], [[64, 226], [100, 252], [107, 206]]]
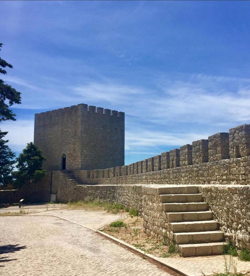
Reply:
[[[2, 43], [0, 43], [0, 51], [2, 48]], [[13, 66], [6, 62], [4, 59], [1, 59], [0, 57], [0, 73], [1, 74], [7, 74], [6, 70], [4, 68], [9, 67], [13, 68]], [[5, 82], [0, 79], [0, 122], [6, 121], [6, 120], [13, 120], [15, 121], [15, 116], [10, 109], [11, 105], [14, 104], [20, 104], [21, 103], [21, 93], [15, 90], [13, 87], [11, 87], [8, 84], [5, 84]]]

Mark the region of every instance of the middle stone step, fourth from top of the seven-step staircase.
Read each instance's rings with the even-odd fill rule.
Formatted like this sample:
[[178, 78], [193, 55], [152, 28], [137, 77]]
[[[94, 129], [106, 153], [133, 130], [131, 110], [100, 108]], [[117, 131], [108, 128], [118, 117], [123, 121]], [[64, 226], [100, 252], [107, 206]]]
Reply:
[[211, 211], [166, 213], [168, 222], [213, 220]]

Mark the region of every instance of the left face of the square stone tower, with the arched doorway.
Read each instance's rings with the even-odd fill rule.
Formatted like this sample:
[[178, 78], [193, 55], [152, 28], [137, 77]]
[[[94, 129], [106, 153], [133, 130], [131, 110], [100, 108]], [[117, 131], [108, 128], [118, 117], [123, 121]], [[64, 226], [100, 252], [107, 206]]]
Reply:
[[81, 108], [77, 105], [35, 114], [34, 144], [46, 161], [46, 170], [62, 169], [62, 155], [66, 155], [66, 169], [81, 168]]

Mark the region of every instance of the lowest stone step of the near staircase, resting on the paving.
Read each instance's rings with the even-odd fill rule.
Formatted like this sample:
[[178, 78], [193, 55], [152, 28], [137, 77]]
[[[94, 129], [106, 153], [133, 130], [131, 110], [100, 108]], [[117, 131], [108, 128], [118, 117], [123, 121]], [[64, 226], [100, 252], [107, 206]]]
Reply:
[[196, 257], [222, 254], [224, 242], [180, 244], [179, 252], [182, 257]]

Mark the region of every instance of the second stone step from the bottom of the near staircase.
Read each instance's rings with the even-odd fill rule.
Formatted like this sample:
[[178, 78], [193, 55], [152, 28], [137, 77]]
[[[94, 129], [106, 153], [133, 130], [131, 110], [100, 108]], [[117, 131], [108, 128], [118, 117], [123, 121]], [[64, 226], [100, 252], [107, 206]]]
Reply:
[[174, 240], [176, 244], [189, 243], [213, 243], [224, 241], [224, 234], [221, 231], [204, 231], [204, 232], [189, 232], [175, 233]]

